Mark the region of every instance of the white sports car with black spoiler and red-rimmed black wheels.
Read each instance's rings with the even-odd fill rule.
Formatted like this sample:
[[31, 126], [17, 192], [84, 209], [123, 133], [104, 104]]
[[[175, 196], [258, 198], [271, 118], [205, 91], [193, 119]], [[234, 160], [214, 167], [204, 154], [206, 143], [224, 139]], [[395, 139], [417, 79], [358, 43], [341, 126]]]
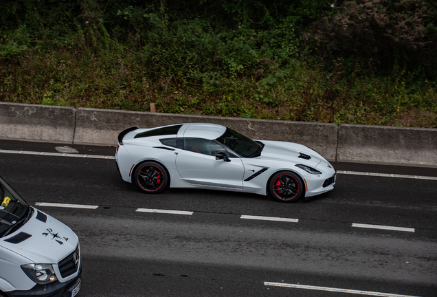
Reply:
[[148, 193], [204, 188], [270, 193], [287, 202], [333, 190], [336, 175], [302, 144], [251, 140], [219, 124], [126, 129], [118, 135], [115, 161], [124, 181]]

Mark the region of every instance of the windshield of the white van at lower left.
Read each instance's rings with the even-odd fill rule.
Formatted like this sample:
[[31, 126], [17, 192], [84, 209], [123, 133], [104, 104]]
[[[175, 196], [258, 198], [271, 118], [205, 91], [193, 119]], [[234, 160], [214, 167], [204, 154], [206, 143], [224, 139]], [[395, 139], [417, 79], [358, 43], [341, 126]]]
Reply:
[[23, 221], [29, 213], [29, 206], [0, 177], [0, 237], [5, 236], [16, 223]]

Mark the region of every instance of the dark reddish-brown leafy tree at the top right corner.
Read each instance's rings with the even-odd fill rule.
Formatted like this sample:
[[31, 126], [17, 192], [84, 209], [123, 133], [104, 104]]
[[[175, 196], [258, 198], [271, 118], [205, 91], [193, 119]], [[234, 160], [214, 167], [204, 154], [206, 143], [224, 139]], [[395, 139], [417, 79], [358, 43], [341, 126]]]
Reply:
[[436, 8], [425, 0], [352, 0], [334, 6], [304, 34], [326, 55], [361, 60], [393, 73], [423, 69], [436, 76]]

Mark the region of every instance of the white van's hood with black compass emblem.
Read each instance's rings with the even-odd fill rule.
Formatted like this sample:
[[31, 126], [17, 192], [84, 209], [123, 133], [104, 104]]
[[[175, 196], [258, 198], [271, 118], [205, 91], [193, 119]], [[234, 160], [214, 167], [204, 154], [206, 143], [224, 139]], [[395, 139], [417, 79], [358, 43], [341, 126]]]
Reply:
[[[47, 216], [45, 222], [36, 219], [38, 212], [40, 212], [39, 218], [43, 217], [44, 220], [43, 212], [35, 209], [32, 218], [19, 230], [0, 239], [0, 245], [21, 254], [29, 259], [30, 263], [58, 263], [76, 249], [78, 236], [67, 225], [48, 214], [45, 214]], [[26, 234], [31, 236], [18, 243], [7, 241], [19, 239], [16, 236], [23, 235], [22, 233], [25, 237], [28, 236]]]

